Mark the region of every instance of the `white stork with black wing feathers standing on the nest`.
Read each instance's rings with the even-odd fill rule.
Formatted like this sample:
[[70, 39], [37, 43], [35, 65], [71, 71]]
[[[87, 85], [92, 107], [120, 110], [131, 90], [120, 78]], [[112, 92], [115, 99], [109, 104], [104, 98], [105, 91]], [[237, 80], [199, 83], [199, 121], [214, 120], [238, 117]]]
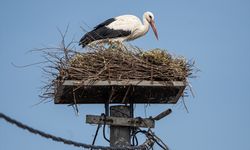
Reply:
[[143, 23], [133, 15], [122, 15], [110, 18], [94, 29], [86, 33], [80, 40], [79, 45], [85, 47], [91, 42], [110, 39], [114, 41], [131, 41], [145, 35], [151, 25], [155, 37], [158, 40], [158, 33], [155, 27], [154, 15], [151, 12], [143, 14]]

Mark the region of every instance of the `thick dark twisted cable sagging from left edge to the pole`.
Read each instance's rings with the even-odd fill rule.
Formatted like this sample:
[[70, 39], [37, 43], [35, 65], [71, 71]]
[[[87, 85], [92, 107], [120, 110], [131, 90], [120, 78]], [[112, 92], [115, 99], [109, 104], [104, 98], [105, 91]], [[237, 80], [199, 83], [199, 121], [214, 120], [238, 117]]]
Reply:
[[21, 128], [21, 129], [27, 130], [30, 133], [38, 134], [41, 137], [51, 139], [51, 140], [56, 141], [56, 142], [61, 142], [61, 143], [67, 144], [67, 145], [72, 145], [72, 146], [75, 146], [75, 147], [83, 147], [83, 148], [93, 149], [93, 150], [148, 150], [149, 148], [152, 147], [152, 145], [154, 143], [152, 139], [147, 139], [140, 146], [129, 146], [129, 147], [95, 146], [95, 145], [75, 142], [75, 141], [72, 141], [72, 140], [64, 139], [64, 138], [61, 138], [61, 137], [58, 137], [58, 136], [54, 136], [52, 134], [45, 133], [43, 131], [34, 129], [34, 128], [30, 127], [30, 126], [27, 126], [27, 125], [25, 125], [25, 124], [23, 124], [23, 123], [21, 123], [21, 122], [19, 122], [17, 120], [14, 120], [14, 119], [6, 116], [3, 113], [0, 113], [0, 118], [4, 119], [8, 123], [16, 125], [17, 127]]

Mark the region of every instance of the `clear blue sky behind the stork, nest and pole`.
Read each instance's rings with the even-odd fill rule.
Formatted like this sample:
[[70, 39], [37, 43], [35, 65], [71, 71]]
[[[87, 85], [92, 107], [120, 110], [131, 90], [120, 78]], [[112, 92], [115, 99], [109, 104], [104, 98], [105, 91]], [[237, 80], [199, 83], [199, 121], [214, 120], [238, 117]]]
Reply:
[[[173, 113], [157, 122], [155, 132], [172, 150], [250, 149], [250, 1], [248, 0], [22, 0], [0, 2], [0, 112], [43, 131], [91, 143], [95, 126], [86, 114], [100, 114], [102, 105], [71, 107], [39, 102], [43, 85], [39, 66], [15, 68], [41, 61], [33, 48], [58, 45], [57, 27], [69, 24], [69, 37], [78, 40], [80, 26], [90, 27], [121, 14], [155, 15], [159, 41], [150, 31], [132, 42], [144, 49], [164, 48], [194, 59], [202, 71], [191, 80], [196, 97], [183, 105], [151, 105], [148, 115], [167, 108]], [[85, 26], [86, 27], [86, 26]], [[144, 117], [143, 105], [136, 114]], [[97, 144], [107, 145], [101, 136]], [[32, 135], [0, 120], [0, 149], [77, 149]]]

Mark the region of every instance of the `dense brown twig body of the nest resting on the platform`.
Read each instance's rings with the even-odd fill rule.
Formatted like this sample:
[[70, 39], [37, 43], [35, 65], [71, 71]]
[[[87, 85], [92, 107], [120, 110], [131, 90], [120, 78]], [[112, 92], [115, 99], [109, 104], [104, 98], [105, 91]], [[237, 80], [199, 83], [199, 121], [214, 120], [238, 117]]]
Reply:
[[59, 78], [71, 80], [151, 80], [186, 81], [192, 65], [184, 57], [174, 58], [167, 51], [139, 48], [110, 42], [89, 47], [58, 64]]

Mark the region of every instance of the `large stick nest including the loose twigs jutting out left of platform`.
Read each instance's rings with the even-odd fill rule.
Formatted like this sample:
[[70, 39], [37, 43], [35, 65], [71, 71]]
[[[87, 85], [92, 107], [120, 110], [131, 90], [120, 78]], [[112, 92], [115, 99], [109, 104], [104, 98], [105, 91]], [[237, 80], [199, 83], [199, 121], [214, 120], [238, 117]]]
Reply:
[[119, 42], [95, 43], [77, 52], [73, 43], [42, 49], [49, 65], [44, 69], [50, 81], [43, 98], [54, 97], [55, 80], [80, 81], [183, 81], [192, 77], [194, 63], [174, 57], [166, 50], [144, 51]]

